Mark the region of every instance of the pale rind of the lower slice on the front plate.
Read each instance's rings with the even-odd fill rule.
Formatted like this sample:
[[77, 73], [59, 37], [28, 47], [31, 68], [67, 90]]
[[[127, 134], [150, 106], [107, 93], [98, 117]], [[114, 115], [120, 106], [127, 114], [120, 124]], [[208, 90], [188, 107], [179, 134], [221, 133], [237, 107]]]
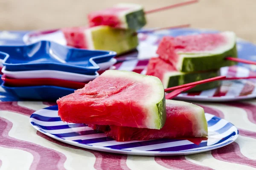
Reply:
[[172, 104], [178, 105], [178, 106], [188, 106], [191, 111], [193, 110], [194, 113], [197, 114], [197, 115], [195, 115], [195, 119], [197, 119], [195, 121], [198, 122], [196, 125], [198, 126], [197, 127], [198, 130], [200, 130], [200, 132], [197, 132], [198, 136], [195, 136], [195, 137], [208, 136], [208, 125], [207, 125], [207, 119], [206, 119], [205, 113], [204, 113], [204, 108], [202, 108], [198, 105], [189, 103], [189, 102], [166, 99], [166, 105], [168, 103], [172, 103]]

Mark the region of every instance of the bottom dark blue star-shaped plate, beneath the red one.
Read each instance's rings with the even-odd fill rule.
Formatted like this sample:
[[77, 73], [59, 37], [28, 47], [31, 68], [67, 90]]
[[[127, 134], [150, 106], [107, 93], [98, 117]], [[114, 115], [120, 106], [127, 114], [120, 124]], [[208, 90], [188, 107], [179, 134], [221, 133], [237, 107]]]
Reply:
[[2, 83], [1, 87], [19, 99], [33, 99], [41, 101], [56, 101], [62, 96], [73, 93], [76, 89], [62, 88], [57, 86], [27, 86], [27, 87], [8, 87]]

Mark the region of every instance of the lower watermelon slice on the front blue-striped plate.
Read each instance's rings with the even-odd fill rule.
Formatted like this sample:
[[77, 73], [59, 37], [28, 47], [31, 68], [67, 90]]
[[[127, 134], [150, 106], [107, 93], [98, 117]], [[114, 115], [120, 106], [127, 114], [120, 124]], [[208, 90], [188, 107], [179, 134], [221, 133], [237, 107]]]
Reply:
[[119, 142], [208, 136], [204, 109], [187, 102], [166, 100], [166, 123], [162, 129], [90, 125]]

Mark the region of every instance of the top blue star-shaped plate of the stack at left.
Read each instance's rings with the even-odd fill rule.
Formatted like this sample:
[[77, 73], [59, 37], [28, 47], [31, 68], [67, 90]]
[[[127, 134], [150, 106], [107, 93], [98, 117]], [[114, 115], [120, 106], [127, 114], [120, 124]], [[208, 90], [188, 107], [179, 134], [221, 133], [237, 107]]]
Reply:
[[57, 70], [79, 74], [95, 74], [97, 63], [108, 62], [114, 51], [84, 50], [67, 47], [50, 41], [30, 45], [0, 46], [9, 54], [3, 65], [8, 71]]

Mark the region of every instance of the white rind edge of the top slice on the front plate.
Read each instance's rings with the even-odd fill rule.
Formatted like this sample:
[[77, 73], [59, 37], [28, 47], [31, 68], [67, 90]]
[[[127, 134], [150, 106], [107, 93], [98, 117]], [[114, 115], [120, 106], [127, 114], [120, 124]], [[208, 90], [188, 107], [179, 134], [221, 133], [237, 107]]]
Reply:
[[[103, 74], [101, 74], [101, 77], [125, 77], [130, 78], [133, 81], [142, 82], [146, 85], [151, 85], [151, 94], [159, 94], [159, 95], [151, 95], [151, 99], [145, 99], [143, 100], [142, 105], [145, 106], [145, 108], [148, 108], [148, 119], [145, 121], [147, 128], [156, 129], [155, 121], [159, 119], [159, 113], [157, 108], [157, 103], [162, 101], [164, 98], [164, 88], [163, 84], [160, 79], [154, 76], [145, 76], [142, 74], [138, 74], [131, 71], [117, 71], [117, 70], [107, 70]], [[156, 86], [159, 86], [159, 88], [156, 88]]]

